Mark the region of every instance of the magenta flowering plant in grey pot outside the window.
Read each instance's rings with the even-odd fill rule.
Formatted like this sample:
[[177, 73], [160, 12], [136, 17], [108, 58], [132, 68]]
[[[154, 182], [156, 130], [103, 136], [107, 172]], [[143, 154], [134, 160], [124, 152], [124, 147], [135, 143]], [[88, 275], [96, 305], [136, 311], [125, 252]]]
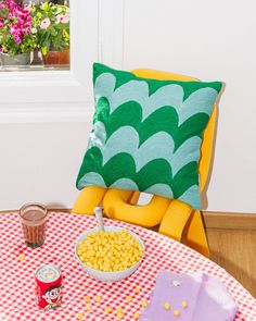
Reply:
[[13, 0], [0, 0], [0, 61], [3, 65], [29, 64], [36, 42], [33, 17]]

